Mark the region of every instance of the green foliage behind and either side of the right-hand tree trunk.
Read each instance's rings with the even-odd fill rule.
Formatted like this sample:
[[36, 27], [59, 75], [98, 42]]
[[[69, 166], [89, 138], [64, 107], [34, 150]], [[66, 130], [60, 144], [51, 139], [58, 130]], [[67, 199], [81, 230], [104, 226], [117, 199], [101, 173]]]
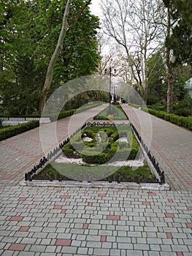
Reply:
[[[147, 105], [154, 110], [166, 110], [166, 67], [161, 56], [161, 52], [155, 53], [147, 61], [148, 77], [148, 97]], [[192, 104], [185, 88], [185, 82], [192, 76], [191, 65], [177, 64], [173, 67], [174, 75], [174, 110], [187, 108], [191, 110]], [[185, 98], [188, 100], [185, 100]], [[185, 102], [185, 104], [183, 104]], [[188, 102], [188, 103], [187, 103]]]

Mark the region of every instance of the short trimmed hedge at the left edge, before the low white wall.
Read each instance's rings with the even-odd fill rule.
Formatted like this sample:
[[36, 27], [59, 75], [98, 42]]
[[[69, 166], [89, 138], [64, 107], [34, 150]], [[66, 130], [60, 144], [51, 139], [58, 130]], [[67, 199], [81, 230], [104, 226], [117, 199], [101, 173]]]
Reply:
[[7, 127], [0, 129], [0, 140], [5, 140], [7, 138], [10, 138], [12, 136], [18, 135], [22, 132], [26, 132], [29, 129], [34, 129], [36, 127], [39, 127], [39, 121], [28, 121], [24, 124], [18, 124], [13, 127]]

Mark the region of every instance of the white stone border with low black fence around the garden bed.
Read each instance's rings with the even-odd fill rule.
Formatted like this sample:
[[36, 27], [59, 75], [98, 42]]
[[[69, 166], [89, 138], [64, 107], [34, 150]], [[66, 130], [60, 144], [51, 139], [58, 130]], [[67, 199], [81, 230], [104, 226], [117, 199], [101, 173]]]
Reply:
[[[39, 173], [46, 165], [50, 163], [50, 160], [55, 159], [55, 157], [58, 157], [58, 153], [61, 151], [61, 148], [63, 148], [66, 143], [69, 142], [69, 140], [77, 133], [80, 132], [80, 130], [84, 129], [85, 127], [90, 126], [107, 126], [107, 127], [115, 127], [118, 126], [128, 126], [131, 125], [134, 135], [137, 138], [137, 141], [139, 145], [142, 147], [142, 151], [147, 152], [147, 164], [150, 165], [150, 170], [155, 174], [155, 176], [159, 179], [159, 183], [135, 183], [135, 182], [118, 182], [118, 181], [112, 181], [106, 182], [106, 181], [37, 181], [33, 180], [34, 174]], [[142, 138], [139, 136], [139, 132], [137, 132], [137, 129], [134, 127], [133, 124], [131, 124], [130, 121], [128, 122], [120, 122], [115, 124], [115, 122], [110, 123], [110, 121], [88, 121], [80, 129], [77, 129], [76, 132], [74, 132], [72, 135], [69, 136], [66, 140], [64, 140], [63, 143], [60, 143], [57, 147], [53, 149], [53, 151], [50, 151], [50, 153], [47, 154], [47, 157], [43, 157], [40, 159], [38, 165], [34, 165], [34, 167], [29, 171], [28, 173], [25, 173], [25, 181], [20, 181], [21, 186], [28, 186], [28, 187], [109, 187], [109, 188], [122, 188], [122, 189], [153, 189], [153, 190], [169, 190], [169, 184], [166, 184], [165, 177], [164, 177], [164, 171], [162, 172], [160, 170], [160, 167], [158, 165], [158, 162], [156, 162], [155, 157], [150, 153], [149, 149], [145, 145]]]

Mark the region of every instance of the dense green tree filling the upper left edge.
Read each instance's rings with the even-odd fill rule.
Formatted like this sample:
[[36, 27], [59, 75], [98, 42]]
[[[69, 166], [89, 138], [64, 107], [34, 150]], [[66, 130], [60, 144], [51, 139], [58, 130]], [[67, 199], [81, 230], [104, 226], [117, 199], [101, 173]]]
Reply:
[[[29, 5], [15, 0], [0, 3], [1, 105], [11, 114], [25, 114], [29, 109], [29, 112], [34, 110], [39, 94], [38, 71], [32, 58], [34, 39], [29, 27]], [[41, 75], [39, 72], [38, 77]]]

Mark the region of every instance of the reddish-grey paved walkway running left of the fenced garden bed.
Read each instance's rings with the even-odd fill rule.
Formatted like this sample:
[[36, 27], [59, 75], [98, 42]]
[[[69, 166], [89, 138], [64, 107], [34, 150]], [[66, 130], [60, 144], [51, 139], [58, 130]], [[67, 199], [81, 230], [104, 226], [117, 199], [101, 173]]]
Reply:
[[[77, 113], [74, 116], [61, 119], [50, 124], [42, 124], [42, 136], [39, 127], [31, 129], [15, 137], [0, 142], [0, 187], [17, 185], [24, 178], [24, 174], [39, 163], [45, 154], [72, 135], [89, 118], [96, 116], [106, 105]], [[57, 141], [53, 138], [56, 127]], [[42, 150], [41, 140], [45, 152]]]

